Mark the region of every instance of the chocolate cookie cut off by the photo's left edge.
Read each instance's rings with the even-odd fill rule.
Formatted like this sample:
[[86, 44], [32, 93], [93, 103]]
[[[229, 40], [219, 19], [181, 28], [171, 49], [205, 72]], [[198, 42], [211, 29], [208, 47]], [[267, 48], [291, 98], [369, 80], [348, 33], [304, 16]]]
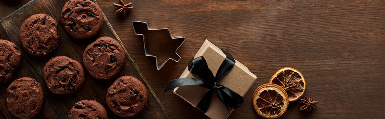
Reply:
[[21, 53], [12, 42], [0, 39], [0, 82], [8, 82], [20, 65]]

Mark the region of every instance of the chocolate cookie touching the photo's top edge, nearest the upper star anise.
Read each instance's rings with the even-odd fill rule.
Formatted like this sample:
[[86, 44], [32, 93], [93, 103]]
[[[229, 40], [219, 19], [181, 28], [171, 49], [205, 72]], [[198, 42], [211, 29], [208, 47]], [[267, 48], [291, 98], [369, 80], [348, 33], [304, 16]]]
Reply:
[[90, 0], [69, 0], [62, 9], [60, 22], [77, 39], [87, 39], [101, 31], [103, 12]]

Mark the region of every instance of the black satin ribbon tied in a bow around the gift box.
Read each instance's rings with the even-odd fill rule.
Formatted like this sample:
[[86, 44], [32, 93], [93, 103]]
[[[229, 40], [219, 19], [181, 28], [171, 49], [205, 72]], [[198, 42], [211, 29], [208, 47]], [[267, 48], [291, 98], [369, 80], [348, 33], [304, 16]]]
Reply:
[[230, 117], [233, 118], [230, 114], [227, 105], [234, 109], [238, 108], [243, 103], [243, 98], [242, 96], [227, 88], [226, 86], [217, 83], [217, 81], [221, 79], [221, 77], [226, 75], [235, 65], [235, 60], [233, 56], [231, 56], [231, 54], [227, 53], [224, 50], [222, 51], [226, 55], [226, 59], [220, 65], [215, 77], [212, 74], [211, 70], [208, 68], [207, 62], [204, 57], [200, 56], [190, 61], [188, 69], [190, 73], [192, 73], [196, 77], [199, 77], [200, 79], [203, 79], [204, 81], [195, 78], [174, 79], [170, 81], [164, 92], [170, 89], [174, 89], [176, 87], [187, 85], [195, 85], [210, 89], [200, 100], [196, 108], [202, 111], [203, 113], [206, 113], [208, 107], [210, 106], [212, 96], [215, 92], [219, 100], [222, 101], [222, 103], [225, 105]]

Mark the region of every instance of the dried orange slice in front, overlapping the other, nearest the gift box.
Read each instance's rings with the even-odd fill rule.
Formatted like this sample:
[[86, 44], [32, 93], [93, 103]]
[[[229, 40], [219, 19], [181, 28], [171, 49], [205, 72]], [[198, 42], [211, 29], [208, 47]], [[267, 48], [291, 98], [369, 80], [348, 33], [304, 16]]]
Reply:
[[263, 84], [255, 90], [252, 99], [254, 110], [263, 118], [278, 118], [288, 109], [289, 98], [276, 84]]

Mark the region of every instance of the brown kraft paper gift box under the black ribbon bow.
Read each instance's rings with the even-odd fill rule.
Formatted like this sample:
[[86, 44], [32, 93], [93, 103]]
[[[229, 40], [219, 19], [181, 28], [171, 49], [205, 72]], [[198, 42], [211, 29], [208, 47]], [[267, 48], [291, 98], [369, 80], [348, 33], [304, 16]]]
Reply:
[[[222, 50], [208, 40], [204, 41], [194, 58], [199, 56], [203, 56], [206, 59], [208, 67], [214, 76], [219, 69], [219, 66], [226, 58], [226, 55], [222, 52]], [[186, 67], [179, 78], [184, 77], [199, 79], [189, 72], [188, 67]], [[230, 88], [243, 97], [256, 79], [257, 77], [251, 73], [246, 66], [235, 60], [234, 67], [229, 73], [223, 76], [218, 83]], [[198, 105], [199, 101], [203, 98], [206, 92], [208, 92], [208, 89], [199, 86], [182, 86], [174, 89], [174, 94], [186, 100], [194, 107]], [[244, 103], [247, 105], [250, 101], [244, 101]], [[230, 113], [233, 110], [233, 108], [229, 107]], [[212, 119], [226, 119], [229, 116], [225, 106], [215, 94], [212, 97], [211, 104], [205, 115]]]

